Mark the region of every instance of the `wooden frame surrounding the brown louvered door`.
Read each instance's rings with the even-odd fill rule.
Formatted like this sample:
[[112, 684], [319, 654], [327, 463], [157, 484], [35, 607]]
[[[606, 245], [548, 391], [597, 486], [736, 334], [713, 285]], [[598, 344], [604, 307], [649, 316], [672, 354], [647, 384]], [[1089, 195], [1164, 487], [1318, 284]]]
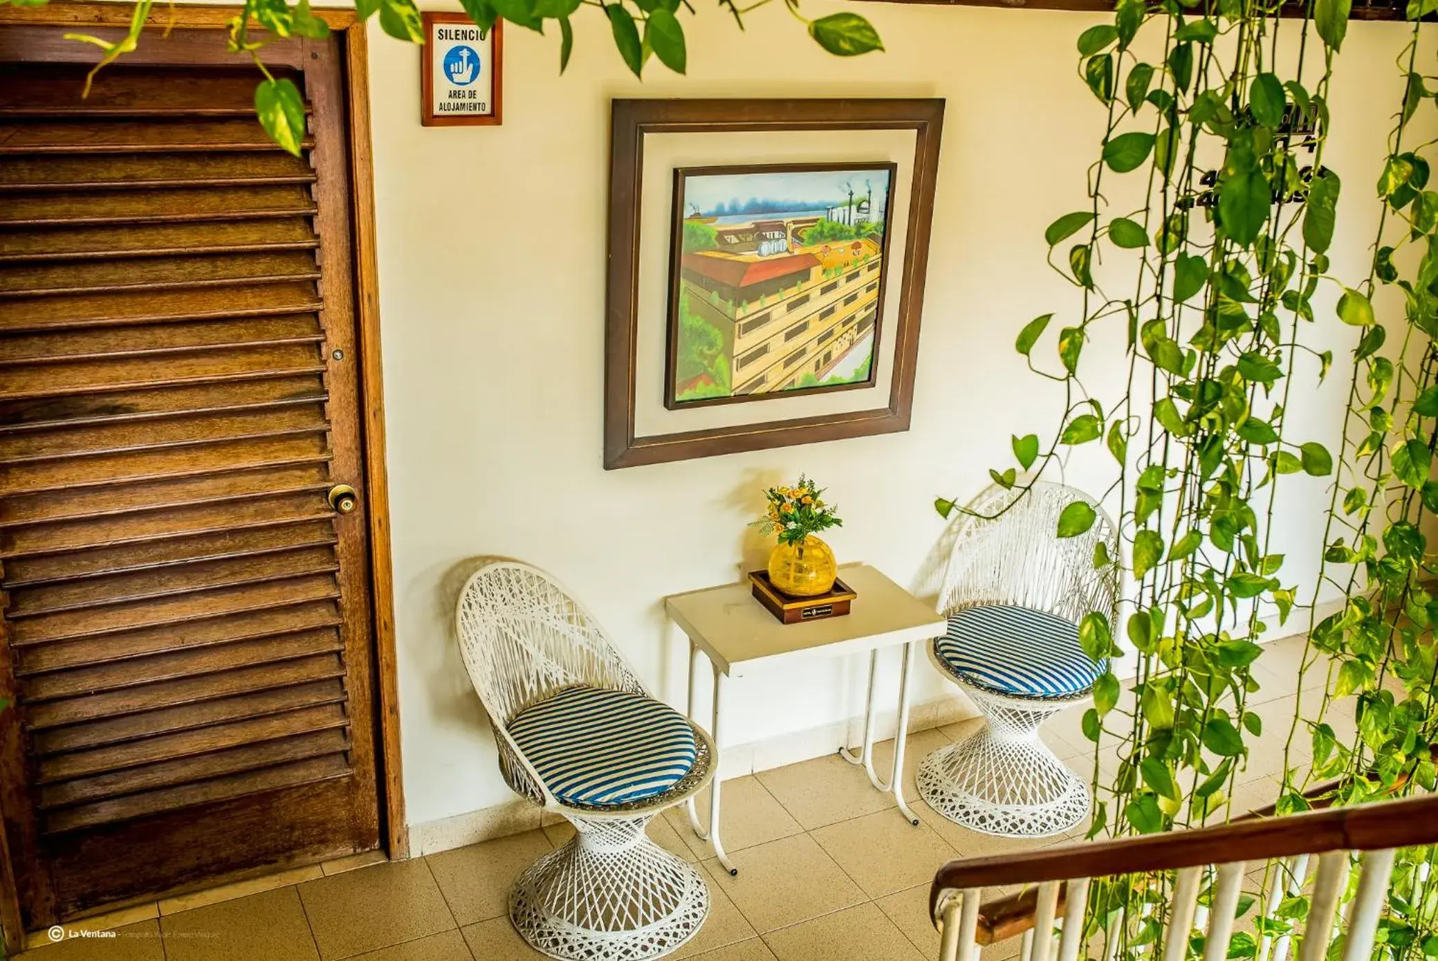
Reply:
[[[150, 26], [177, 29], [223, 29], [236, 6], [155, 7]], [[109, 27], [128, 26], [129, 3], [52, 0], [43, 7], [0, 6], [0, 27], [12, 24]], [[360, 345], [360, 429], [364, 449], [370, 541], [370, 594], [374, 606], [375, 714], [380, 729], [381, 837], [393, 860], [410, 856], [404, 817], [404, 784], [400, 764], [400, 699], [394, 643], [394, 571], [390, 557], [390, 482], [385, 472], [384, 380], [380, 367], [380, 285], [374, 223], [374, 157], [370, 134], [370, 55], [365, 24], [354, 10], [316, 9], [331, 29], [344, 32], [345, 108], [349, 121], [349, 190], [355, 275], [357, 337]], [[98, 59], [98, 55], [96, 55]], [[236, 58], [243, 65], [242, 58]], [[4, 948], [24, 948], [19, 891], [4, 832], [0, 832], [0, 928]]]

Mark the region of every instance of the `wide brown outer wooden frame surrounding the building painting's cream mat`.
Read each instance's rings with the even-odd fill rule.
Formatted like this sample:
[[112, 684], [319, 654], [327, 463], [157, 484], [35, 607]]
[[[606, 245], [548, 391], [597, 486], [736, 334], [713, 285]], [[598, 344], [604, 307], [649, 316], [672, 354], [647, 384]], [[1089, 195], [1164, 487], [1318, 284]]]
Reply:
[[[742, 450], [841, 440], [909, 429], [919, 312], [943, 128], [942, 99], [615, 99], [610, 145], [608, 291], [604, 350], [604, 469]], [[871, 410], [792, 417], [669, 434], [634, 434], [638, 345], [640, 206], [644, 137], [733, 131], [915, 131], [906, 249], [889, 403]], [[887, 214], [886, 214], [887, 216]], [[886, 255], [890, 255], [886, 250]], [[889, 278], [886, 275], [886, 283]], [[876, 340], [877, 344], [877, 340]], [[794, 396], [795, 391], [789, 391]], [[689, 407], [690, 404], [684, 404]]]

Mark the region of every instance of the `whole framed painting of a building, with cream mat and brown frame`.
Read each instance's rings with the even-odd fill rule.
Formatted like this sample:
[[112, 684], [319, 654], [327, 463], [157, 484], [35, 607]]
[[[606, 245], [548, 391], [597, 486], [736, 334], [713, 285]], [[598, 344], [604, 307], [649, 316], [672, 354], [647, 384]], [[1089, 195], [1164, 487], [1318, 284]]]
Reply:
[[604, 466], [909, 429], [942, 99], [617, 99]]

